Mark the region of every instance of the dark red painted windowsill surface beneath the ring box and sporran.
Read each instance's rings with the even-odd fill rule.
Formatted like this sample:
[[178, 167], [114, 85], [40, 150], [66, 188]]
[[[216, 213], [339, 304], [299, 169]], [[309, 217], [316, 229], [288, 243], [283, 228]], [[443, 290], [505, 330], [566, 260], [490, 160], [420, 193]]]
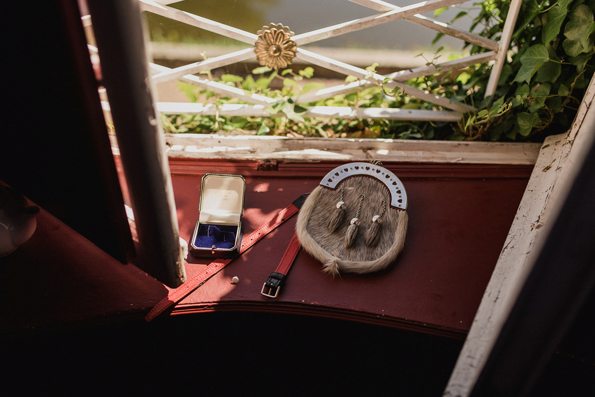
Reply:
[[[281, 163], [171, 158], [180, 235], [189, 240], [207, 172], [246, 178], [245, 235], [264, 217], [311, 192], [340, 163]], [[184, 299], [173, 314], [265, 311], [345, 318], [463, 337], [502, 249], [527, 185], [527, 165], [385, 164], [408, 194], [405, 249], [386, 270], [331, 279], [300, 252], [277, 299], [261, 295], [293, 234], [287, 221]], [[123, 265], [45, 211], [32, 239], [0, 258], [1, 333], [64, 327], [108, 317], [140, 318], [168, 289]], [[189, 257], [187, 276], [208, 260]], [[237, 276], [239, 283], [231, 282]]]

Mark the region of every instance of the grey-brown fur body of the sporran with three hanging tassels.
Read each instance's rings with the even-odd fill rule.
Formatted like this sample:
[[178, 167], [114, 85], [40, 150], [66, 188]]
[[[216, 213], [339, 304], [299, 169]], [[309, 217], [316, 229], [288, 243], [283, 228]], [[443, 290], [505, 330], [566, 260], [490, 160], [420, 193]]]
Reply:
[[[345, 215], [330, 231], [329, 218], [341, 189]], [[333, 276], [386, 268], [403, 249], [408, 221], [405, 209], [390, 205], [391, 194], [386, 183], [369, 175], [350, 175], [334, 189], [317, 186], [297, 218], [296, 233], [303, 249]]]

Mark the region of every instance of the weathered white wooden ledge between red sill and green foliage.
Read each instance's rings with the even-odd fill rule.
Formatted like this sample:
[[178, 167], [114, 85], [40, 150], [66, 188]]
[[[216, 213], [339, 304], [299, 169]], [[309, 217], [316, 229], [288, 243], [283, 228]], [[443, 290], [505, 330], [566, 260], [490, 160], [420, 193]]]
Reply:
[[533, 165], [541, 143], [166, 134], [169, 157]]

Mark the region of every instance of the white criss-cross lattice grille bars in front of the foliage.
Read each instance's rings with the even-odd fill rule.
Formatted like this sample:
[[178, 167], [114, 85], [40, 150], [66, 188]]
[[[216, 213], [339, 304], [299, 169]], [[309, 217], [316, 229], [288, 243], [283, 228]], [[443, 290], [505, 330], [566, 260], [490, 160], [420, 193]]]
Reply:
[[[462, 113], [473, 112], [475, 109], [461, 102], [451, 102], [449, 98], [435, 95], [433, 93], [420, 90], [417, 87], [407, 85], [409, 79], [419, 76], [429, 76], [438, 71], [445, 72], [469, 65], [480, 64], [483, 62], [494, 62], [491, 68], [490, 79], [486, 87], [486, 96], [492, 95], [496, 90], [496, 83], [499, 79], [504, 62], [506, 61], [506, 51], [508, 51], [512, 36], [513, 27], [522, 0], [512, 0], [508, 15], [506, 16], [505, 27], [499, 41], [494, 41], [476, 35], [465, 30], [457, 29], [449, 24], [421, 15], [423, 12], [433, 11], [437, 8], [449, 7], [451, 5], [461, 4], [465, 1], [460, 0], [429, 0], [411, 4], [407, 7], [397, 7], [396, 5], [380, 0], [348, 0], [356, 4], [378, 11], [368, 17], [358, 18], [356, 20], [346, 21], [345, 23], [327, 26], [323, 29], [312, 30], [311, 32], [299, 33], [292, 36], [291, 39], [297, 45], [296, 58], [306, 63], [318, 65], [329, 70], [336, 71], [345, 76], [355, 76], [359, 80], [350, 83], [343, 83], [333, 87], [325, 87], [305, 93], [295, 98], [296, 104], [308, 104], [320, 99], [332, 98], [335, 95], [346, 95], [347, 93], [362, 90], [366, 87], [382, 84], [387, 89], [399, 89], [406, 95], [415, 96], [427, 102], [436, 105], [434, 110], [419, 109], [400, 109], [400, 108], [351, 108], [351, 107], [331, 107], [314, 106], [307, 108], [304, 117], [334, 117], [334, 118], [385, 118], [393, 120], [433, 120], [433, 121], [458, 121]], [[155, 71], [153, 76], [155, 83], [167, 82], [170, 80], [180, 80], [192, 85], [203, 87], [212, 92], [233, 96], [249, 104], [199, 104], [199, 103], [180, 103], [180, 102], [158, 102], [158, 110], [164, 114], [220, 114], [228, 116], [275, 116], [268, 109], [271, 108], [277, 99], [269, 98], [256, 93], [248, 93], [238, 87], [215, 82], [205, 77], [196, 76], [201, 71], [211, 70], [218, 67], [234, 64], [256, 58], [254, 44], [258, 36], [256, 33], [245, 32], [226, 24], [208, 20], [199, 15], [180, 11], [176, 8], [168, 7], [167, 4], [176, 2], [175, 0], [139, 0], [140, 8], [143, 11], [153, 12], [163, 17], [177, 20], [190, 26], [195, 26], [210, 32], [231, 37], [248, 45], [245, 49], [233, 51], [225, 55], [210, 58], [208, 60], [192, 62], [176, 68], [168, 68], [157, 64], [151, 64]], [[481, 54], [471, 55], [456, 61], [444, 62], [441, 64], [430, 64], [425, 67], [419, 67], [409, 70], [397, 71], [390, 74], [371, 73], [370, 71], [347, 64], [345, 62], [325, 57], [324, 55], [308, 51], [301, 47], [304, 44], [314, 43], [318, 40], [327, 39], [345, 33], [355, 32], [368, 27], [377, 26], [383, 23], [389, 23], [396, 20], [406, 20], [432, 29], [436, 32], [444, 33], [465, 40], [466, 42], [486, 48], [487, 51]], [[280, 21], [281, 23], [283, 21]], [[374, 60], [371, 60], [372, 62]]]

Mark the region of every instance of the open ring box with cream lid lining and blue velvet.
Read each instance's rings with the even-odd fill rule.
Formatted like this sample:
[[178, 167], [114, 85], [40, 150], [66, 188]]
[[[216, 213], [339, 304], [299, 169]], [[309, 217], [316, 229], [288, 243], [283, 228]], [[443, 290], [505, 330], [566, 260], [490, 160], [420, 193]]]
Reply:
[[195, 257], [233, 258], [242, 244], [246, 180], [241, 175], [205, 174], [189, 251]]

